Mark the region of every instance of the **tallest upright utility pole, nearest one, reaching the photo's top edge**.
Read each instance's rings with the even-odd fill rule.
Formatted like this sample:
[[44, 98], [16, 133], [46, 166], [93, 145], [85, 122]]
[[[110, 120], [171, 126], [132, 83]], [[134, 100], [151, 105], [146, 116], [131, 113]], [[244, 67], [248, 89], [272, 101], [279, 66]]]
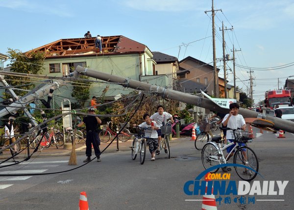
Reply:
[[213, 47], [213, 69], [214, 69], [214, 96], [216, 98], [220, 97], [219, 93], [219, 75], [218, 75], [218, 69], [217, 69], [217, 58], [216, 58], [216, 34], [215, 34], [215, 27], [214, 27], [214, 17], [215, 17], [215, 11], [221, 11], [221, 9], [214, 9], [213, 6], [213, 0], [212, 0], [212, 6], [210, 11], [205, 11], [206, 12], [211, 12], [212, 16], [212, 47]]

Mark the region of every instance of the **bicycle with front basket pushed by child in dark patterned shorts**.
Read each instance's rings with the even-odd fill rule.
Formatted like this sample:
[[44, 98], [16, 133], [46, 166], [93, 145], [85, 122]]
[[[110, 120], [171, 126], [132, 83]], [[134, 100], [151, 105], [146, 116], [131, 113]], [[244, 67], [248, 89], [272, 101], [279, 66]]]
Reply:
[[143, 165], [146, 157], [146, 136], [150, 136], [152, 130], [150, 128], [142, 129], [140, 127], [137, 127], [136, 130], [137, 134], [132, 135], [131, 155], [132, 159], [135, 160], [137, 154], [140, 153], [140, 163]]

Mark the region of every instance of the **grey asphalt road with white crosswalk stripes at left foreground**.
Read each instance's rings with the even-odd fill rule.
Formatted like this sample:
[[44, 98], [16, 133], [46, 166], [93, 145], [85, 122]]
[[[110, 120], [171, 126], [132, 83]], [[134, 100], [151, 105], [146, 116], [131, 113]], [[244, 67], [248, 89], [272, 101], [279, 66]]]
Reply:
[[[286, 138], [276, 138], [265, 131], [257, 136], [249, 146], [258, 156], [262, 177], [257, 176], [254, 181], [289, 181], [284, 195], [245, 195], [245, 204], [238, 202], [240, 196], [221, 196], [221, 204], [217, 204], [219, 210], [294, 209], [294, 135], [286, 133]], [[101, 155], [101, 162], [93, 160], [69, 172], [0, 176], [0, 209], [77, 209], [81, 191], [87, 193], [89, 209], [201, 209], [202, 201], [187, 200], [200, 200], [202, 196], [189, 196], [183, 191], [184, 184], [195, 180], [204, 170], [200, 151], [195, 149], [194, 141], [185, 138], [171, 142], [171, 154], [171, 159], [162, 153], [155, 161], [150, 161], [150, 153], [147, 153], [146, 162], [141, 165], [139, 157], [131, 159], [130, 151], [105, 153]], [[78, 164], [69, 166], [69, 156], [36, 157], [29, 163], [0, 168], [0, 174], [60, 172], [81, 166], [83, 159], [84, 155], [78, 155]], [[234, 169], [230, 181], [240, 181]], [[274, 189], [278, 189], [277, 185]], [[230, 197], [231, 204], [224, 203], [225, 197]], [[248, 197], [254, 197], [254, 204], [252, 200], [248, 204]], [[237, 199], [236, 203], [234, 199]]]

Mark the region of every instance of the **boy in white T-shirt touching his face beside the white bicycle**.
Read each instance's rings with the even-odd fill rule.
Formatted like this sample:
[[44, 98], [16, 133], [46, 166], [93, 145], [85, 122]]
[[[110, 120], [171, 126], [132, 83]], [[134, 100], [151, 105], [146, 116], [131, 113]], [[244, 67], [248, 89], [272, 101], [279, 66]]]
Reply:
[[[246, 123], [241, 114], [238, 114], [239, 112], [239, 105], [237, 103], [230, 104], [230, 113], [226, 114], [222, 120], [222, 124], [230, 129], [238, 129], [242, 128], [242, 130], [246, 130]], [[228, 144], [233, 142], [235, 137], [232, 133], [232, 130], [227, 130], [226, 133], [226, 139], [228, 141]], [[244, 143], [239, 143], [240, 146], [245, 145]], [[231, 145], [227, 148], [227, 153], [230, 153], [231, 150], [234, 148], [234, 145]], [[230, 157], [234, 155], [234, 151], [230, 154]], [[229, 158], [230, 158], [229, 157]]]

